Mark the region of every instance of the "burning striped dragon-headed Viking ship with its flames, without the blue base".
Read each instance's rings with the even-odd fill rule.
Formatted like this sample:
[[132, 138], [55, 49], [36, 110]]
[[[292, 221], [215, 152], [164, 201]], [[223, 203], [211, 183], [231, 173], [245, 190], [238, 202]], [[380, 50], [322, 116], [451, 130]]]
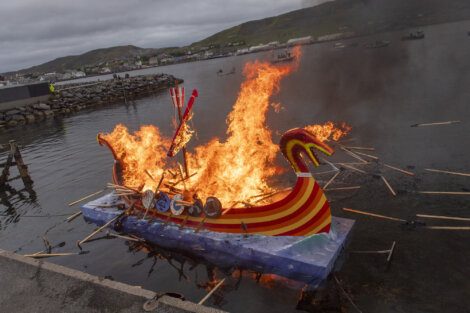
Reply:
[[[230, 138], [225, 143], [213, 141], [208, 147], [196, 148], [195, 155], [188, 159], [185, 146], [194, 133], [189, 121], [198, 92], [192, 92], [183, 113], [184, 88], [181, 87], [170, 90], [179, 118], [179, 125], [171, 141], [162, 139], [156, 131], [153, 137], [140, 133], [140, 137], [136, 139], [127, 133], [127, 129], [122, 129], [123, 126], [121, 131], [98, 135], [98, 142], [106, 145], [114, 156], [112, 186], [135, 213], [144, 218], [157, 219], [180, 227], [220, 233], [307, 236], [330, 231], [331, 213], [328, 200], [310, 173], [306, 160], [318, 166], [316, 152], [331, 155], [333, 150], [309, 130], [302, 128], [285, 132], [277, 147], [272, 143], [271, 133], [265, 126], [269, 97], [277, 90], [281, 77], [292, 71], [294, 66], [275, 67], [267, 63], [254, 63], [249, 66], [245, 69], [248, 79], [242, 85], [237, 103], [228, 118]], [[125, 142], [126, 138], [131, 140]], [[249, 142], [250, 139], [254, 142]], [[135, 148], [129, 141], [140, 146]], [[154, 155], [142, 155], [146, 145]], [[153, 147], [150, 147], [151, 145]], [[159, 147], [155, 148], [155, 145]], [[245, 150], [240, 150], [240, 147]], [[166, 156], [162, 155], [165, 149]], [[259, 179], [258, 171], [263, 171], [263, 167], [266, 167], [267, 176], [278, 172], [268, 163], [275, 158], [279, 150], [295, 171], [295, 186], [282, 199], [272, 203], [246, 205], [246, 199], [250, 198], [247, 194], [259, 193], [255, 189], [257, 187], [261, 187], [259, 189], [265, 194], [276, 193], [267, 186], [265, 177]], [[167, 160], [179, 151], [182, 151], [184, 166], [178, 164], [176, 169], [170, 169]], [[157, 154], [160, 154], [159, 157], [153, 159]], [[228, 162], [226, 160], [222, 170], [214, 170], [221, 167], [217, 165], [220, 165], [219, 159], [224, 154], [234, 154], [234, 158]], [[140, 162], [140, 159], [136, 160], [138, 158], [149, 159], [152, 168], [136, 165]], [[196, 161], [193, 161], [193, 164], [188, 164], [194, 159]], [[201, 166], [201, 159], [208, 161]], [[251, 164], [255, 159], [261, 162]], [[245, 168], [246, 166], [248, 167]], [[194, 173], [191, 174], [190, 170]], [[240, 171], [244, 171], [241, 178], [230, 177]], [[140, 172], [140, 181], [135, 179], [136, 172]], [[178, 172], [180, 175], [177, 175]], [[171, 175], [173, 183], [167, 178]], [[231, 181], [227, 179], [227, 175], [232, 178]], [[145, 179], [142, 179], [142, 176]], [[129, 186], [129, 182], [134, 185]], [[230, 192], [232, 183], [241, 183], [243, 188]], [[183, 188], [175, 187], [178, 184], [183, 185]], [[215, 185], [216, 188], [208, 188], [205, 191], [205, 184]], [[222, 202], [217, 194], [219, 190], [225, 195]], [[231, 197], [227, 196], [229, 193]], [[237, 195], [241, 199], [233, 199]]]

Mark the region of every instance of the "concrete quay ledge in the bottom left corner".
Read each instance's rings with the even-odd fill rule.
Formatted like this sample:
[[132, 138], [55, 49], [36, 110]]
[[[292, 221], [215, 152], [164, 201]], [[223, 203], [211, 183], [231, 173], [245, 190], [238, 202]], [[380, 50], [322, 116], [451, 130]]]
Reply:
[[[2, 312], [145, 312], [156, 293], [0, 249]], [[220, 313], [163, 296], [152, 312]]]

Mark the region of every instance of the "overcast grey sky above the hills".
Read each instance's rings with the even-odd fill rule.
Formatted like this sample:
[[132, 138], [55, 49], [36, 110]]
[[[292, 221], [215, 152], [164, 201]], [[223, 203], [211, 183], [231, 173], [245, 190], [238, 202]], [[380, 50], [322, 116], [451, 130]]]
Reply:
[[116, 45], [182, 46], [325, 0], [0, 0], [0, 73]]

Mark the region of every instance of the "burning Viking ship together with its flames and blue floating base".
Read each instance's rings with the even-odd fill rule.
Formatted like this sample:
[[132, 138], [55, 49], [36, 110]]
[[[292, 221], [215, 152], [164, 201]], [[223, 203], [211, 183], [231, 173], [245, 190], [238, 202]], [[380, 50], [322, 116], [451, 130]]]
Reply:
[[[117, 125], [98, 142], [114, 156], [114, 192], [82, 206], [84, 218], [162, 248], [203, 258], [218, 267], [246, 268], [316, 286], [331, 272], [354, 221], [332, 217], [328, 200], [309, 172], [316, 152], [349, 129], [310, 125], [285, 132], [280, 143], [266, 126], [270, 98], [296, 62], [274, 66], [247, 63], [242, 84], [227, 117], [227, 137], [186, 150], [195, 135], [191, 125], [196, 90], [183, 112], [184, 89], [170, 95], [175, 108], [172, 139], [155, 126], [131, 134]], [[199, 115], [198, 115], [199, 116]], [[204, 117], [204, 116], [202, 116]], [[282, 153], [297, 181], [288, 191], [268, 184], [282, 172]], [[175, 156], [183, 156], [183, 164]], [[277, 198], [275, 198], [277, 197]]]

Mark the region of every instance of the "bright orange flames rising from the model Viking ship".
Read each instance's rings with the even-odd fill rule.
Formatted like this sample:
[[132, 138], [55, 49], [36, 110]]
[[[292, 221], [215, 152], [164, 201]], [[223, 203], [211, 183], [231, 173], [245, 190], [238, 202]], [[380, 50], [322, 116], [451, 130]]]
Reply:
[[[279, 147], [266, 125], [266, 113], [281, 79], [298, 67], [300, 48], [296, 47], [293, 54], [295, 61], [289, 65], [258, 61], [245, 65], [246, 80], [226, 121], [227, 138], [214, 138], [189, 153], [191, 177], [184, 183], [186, 189], [201, 198], [217, 196], [226, 205], [273, 190], [268, 179], [277, 172], [273, 164]], [[330, 133], [340, 136], [334, 135], [339, 134], [335, 129], [331, 123]], [[321, 139], [325, 136], [329, 137], [322, 135]], [[169, 140], [154, 126], [142, 126], [131, 135], [125, 126], [118, 125], [103, 137], [121, 160], [124, 182], [129, 187], [153, 189], [163, 169], [172, 166], [167, 164], [165, 153]]]

